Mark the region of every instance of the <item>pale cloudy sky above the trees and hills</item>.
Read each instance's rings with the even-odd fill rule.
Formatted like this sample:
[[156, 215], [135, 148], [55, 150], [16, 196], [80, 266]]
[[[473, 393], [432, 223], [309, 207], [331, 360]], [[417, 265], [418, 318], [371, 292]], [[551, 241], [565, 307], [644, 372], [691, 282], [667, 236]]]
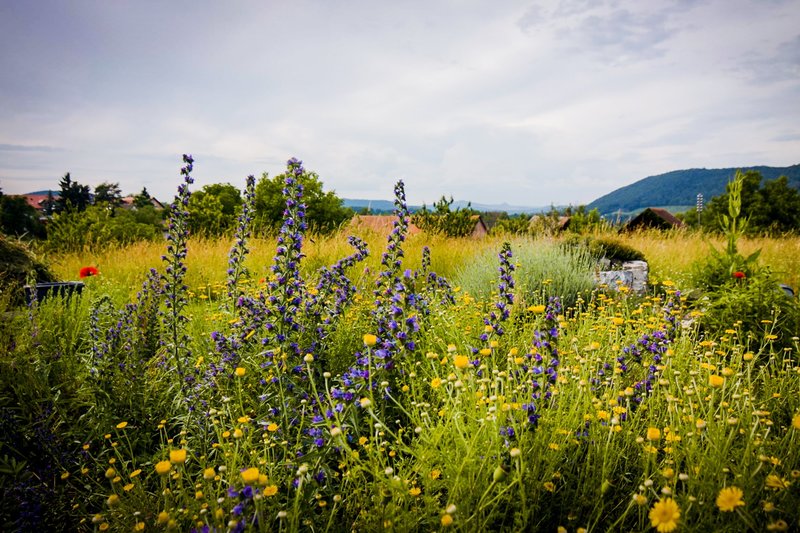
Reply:
[[0, 0], [0, 187], [583, 204], [800, 162], [798, 0]]

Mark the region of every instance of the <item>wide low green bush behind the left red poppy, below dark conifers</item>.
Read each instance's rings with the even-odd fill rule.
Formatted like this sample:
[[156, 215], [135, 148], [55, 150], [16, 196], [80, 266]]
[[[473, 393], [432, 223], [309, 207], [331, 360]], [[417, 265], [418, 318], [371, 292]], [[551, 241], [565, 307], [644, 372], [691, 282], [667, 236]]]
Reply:
[[85, 211], [67, 211], [53, 216], [47, 246], [75, 251], [87, 246], [125, 245], [161, 236], [161, 215], [153, 206], [136, 210], [90, 206]]

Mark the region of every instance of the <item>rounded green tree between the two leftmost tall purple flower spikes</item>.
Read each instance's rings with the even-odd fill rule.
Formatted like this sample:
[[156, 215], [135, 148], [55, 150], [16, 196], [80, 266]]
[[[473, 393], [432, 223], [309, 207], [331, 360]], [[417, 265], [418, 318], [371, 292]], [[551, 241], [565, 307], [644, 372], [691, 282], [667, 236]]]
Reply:
[[189, 231], [195, 235], [222, 235], [233, 229], [242, 194], [229, 183], [205, 185], [189, 199]]

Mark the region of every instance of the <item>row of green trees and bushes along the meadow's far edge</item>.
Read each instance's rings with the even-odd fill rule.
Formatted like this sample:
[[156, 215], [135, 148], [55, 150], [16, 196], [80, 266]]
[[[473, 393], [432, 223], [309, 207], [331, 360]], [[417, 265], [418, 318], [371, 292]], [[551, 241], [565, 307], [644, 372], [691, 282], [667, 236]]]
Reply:
[[[298, 177], [303, 185], [306, 220], [311, 231], [329, 233], [340, 228], [355, 213], [345, 207], [334, 191], [325, 190], [319, 175], [306, 172]], [[283, 174], [269, 177], [263, 173], [255, 189], [254, 227], [262, 234], [274, 233], [280, 226], [285, 209]], [[712, 198], [699, 213], [696, 208], [678, 217], [690, 227], [719, 231], [720, 221], [728, 205], [729, 192]], [[450, 237], [470, 234], [476, 215], [494, 233], [541, 234], [568, 231], [587, 233], [612, 228], [597, 209], [585, 206], [551, 208], [531, 217], [527, 214], [479, 213], [467, 206], [452, 208], [453, 199], [442, 196], [432, 209], [423, 205], [412, 221], [424, 231]], [[241, 211], [242, 191], [230, 183], [205, 185], [194, 191], [189, 205], [190, 231], [195, 235], [214, 237], [232, 233]], [[748, 234], [780, 235], [800, 231], [800, 192], [782, 176], [762, 184], [758, 171], [743, 173], [741, 191], [742, 214], [747, 219]], [[58, 183], [58, 192], [44, 200], [41, 213], [21, 196], [4, 195], [0, 190], [0, 231], [6, 235], [44, 240], [54, 248], [80, 249], [86, 245], [128, 244], [154, 239], [163, 233], [167, 209], [154, 205], [153, 198], [142, 188], [123, 205], [119, 183], [103, 182], [94, 188], [72, 179], [67, 173]]]

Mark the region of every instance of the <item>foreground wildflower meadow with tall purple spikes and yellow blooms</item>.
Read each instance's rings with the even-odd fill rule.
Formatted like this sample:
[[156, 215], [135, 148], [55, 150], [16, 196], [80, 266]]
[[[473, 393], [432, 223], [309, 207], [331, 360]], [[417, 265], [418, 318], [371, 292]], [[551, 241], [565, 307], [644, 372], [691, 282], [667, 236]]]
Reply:
[[798, 339], [779, 317], [717, 335], [670, 281], [565, 307], [517, 286], [525, 240], [477, 298], [409, 245], [402, 182], [379, 255], [348, 236], [312, 270], [296, 159], [271, 265], [248, 262], [251, 176], [201, 298], [184, 164], [133, 298], [103, 265], [80, 298], [8, 310], [4, 530], [800, 528]]

